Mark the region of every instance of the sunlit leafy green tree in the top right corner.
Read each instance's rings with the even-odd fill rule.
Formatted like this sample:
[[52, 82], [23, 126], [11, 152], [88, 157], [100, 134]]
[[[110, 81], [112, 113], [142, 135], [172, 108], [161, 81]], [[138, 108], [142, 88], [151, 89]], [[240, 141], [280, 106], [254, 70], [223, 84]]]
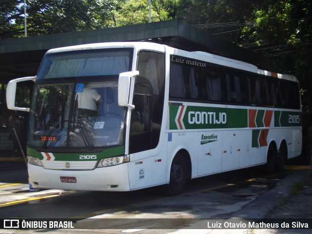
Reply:
[[[275, 50], [276, 69], [299, 78], [303, 104], [311, 106], [312, 92], [312, 2], [310, 0], [270, 1], [266, 8], [254, 9], [256, 26], [252, 31], [259, 43], [282, 44]], [[279, 53], [278, 53], [279, 52]], [[308, 96], [308, 97], [307, 97]]]

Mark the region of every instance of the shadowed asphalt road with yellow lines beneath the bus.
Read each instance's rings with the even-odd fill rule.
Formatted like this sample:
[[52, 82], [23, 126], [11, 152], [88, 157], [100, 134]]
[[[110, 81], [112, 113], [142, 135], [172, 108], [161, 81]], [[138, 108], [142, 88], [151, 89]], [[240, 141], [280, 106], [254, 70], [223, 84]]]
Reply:
[[[132, 192], [30, 192], [24, 165], [5, 168], [0, 171], [0, 218], [62, 218], [74, 223], [75, 232], [71, 229], [48, 230], [53, 233], [137, 230], [144, 234], [153, 233], [153, 229], [161, 229], [157, 233], [171, 233], [190, 226], [195, 220], [230, 217], [296, 170], [288, 167], [288, 170], [268, 176], [259, 168], [250, 168], [206, 176], [190, 181], [182, 195], [168, 197], [162, 195], [159, 187]], [[6, 229], [3, 233], [33, 232]]]

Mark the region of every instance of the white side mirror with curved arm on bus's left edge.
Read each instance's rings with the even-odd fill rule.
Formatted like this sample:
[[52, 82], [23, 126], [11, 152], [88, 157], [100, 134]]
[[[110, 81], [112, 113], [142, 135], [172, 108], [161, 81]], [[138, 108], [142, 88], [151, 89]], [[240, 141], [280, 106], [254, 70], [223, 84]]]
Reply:
[[12, 79], [9, 81], [7, 87], [6, 87], [6, 105], [8, 109], [15, 110], [15, 111], [27, 111], [29, 112], [30, 108], [26, 107], [16, 107], [15, 106], [15, 97], [16, 97], [16, 87], [17, 83], [32, 80], [36, 82], [36, 77], [24, 77], [24, 78], [17, 78]]

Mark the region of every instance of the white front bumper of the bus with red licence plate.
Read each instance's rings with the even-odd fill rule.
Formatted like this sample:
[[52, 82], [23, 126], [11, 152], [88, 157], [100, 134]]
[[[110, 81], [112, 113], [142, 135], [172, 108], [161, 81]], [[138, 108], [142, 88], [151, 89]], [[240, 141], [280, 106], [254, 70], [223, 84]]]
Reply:
[[94, 170], [52, 170], [28, 163], [28, 175], [39, 189], [130, 191], [128, 163]]

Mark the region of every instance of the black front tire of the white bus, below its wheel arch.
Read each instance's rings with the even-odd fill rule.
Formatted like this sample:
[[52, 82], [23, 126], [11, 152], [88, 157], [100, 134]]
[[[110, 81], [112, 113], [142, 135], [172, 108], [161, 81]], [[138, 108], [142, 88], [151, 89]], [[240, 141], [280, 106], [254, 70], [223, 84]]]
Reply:
[[166, 186], [166, 194], [171, 196], [180, 195], [186, 184], [186, 162], [182, 154], [177, 153], [171, 164], [169, 184]]

